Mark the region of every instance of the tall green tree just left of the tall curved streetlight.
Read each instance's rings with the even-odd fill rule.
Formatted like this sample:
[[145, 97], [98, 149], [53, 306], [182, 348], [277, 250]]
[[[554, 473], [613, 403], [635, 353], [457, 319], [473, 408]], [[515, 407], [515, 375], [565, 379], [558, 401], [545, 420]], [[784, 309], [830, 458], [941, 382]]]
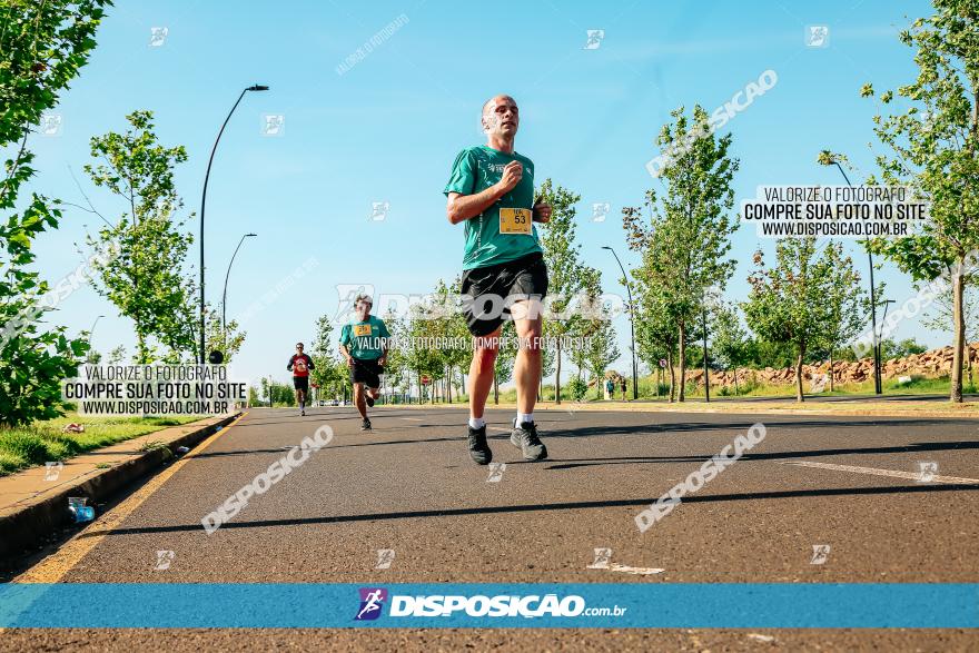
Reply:
[[154, 337], [176, 357], [194, 350], [195, 284], [184, 271], [194, 237], [180, 232], [182, 221], [175, 221], [184, 202], [174, 186], [174, 170], [187, 160], [187, 151], [159, 142], [151, 111], [134, 111], [126, 120], [130, 125], [126, 133], [110, 131], [91, 139], [97, 162], [85, 170], [96, 186], [121, 197], [128, 210], [115, 226], [90, 236], [89, 243], [113, 243], [120, 248], [119, 256], [97, 266], [99, 279], [92, 286], [132, 319], [136, 363], [142, 364], [160, 356]]

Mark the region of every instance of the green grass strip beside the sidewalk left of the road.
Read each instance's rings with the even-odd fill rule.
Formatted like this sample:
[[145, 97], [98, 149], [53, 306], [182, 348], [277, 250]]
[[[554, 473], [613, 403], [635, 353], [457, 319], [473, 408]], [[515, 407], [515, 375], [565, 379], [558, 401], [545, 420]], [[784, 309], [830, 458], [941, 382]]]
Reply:
[[[65, 461], [85, 452], [200, 418], [200, 415], [96, 417], [69, 413], [47, 422], [34, 422], [30, 426], [0, 428], [0, 476], [47, 462]], [[83, 425], [85, 433], [63, 433], [65, 426], [71, 423]]]

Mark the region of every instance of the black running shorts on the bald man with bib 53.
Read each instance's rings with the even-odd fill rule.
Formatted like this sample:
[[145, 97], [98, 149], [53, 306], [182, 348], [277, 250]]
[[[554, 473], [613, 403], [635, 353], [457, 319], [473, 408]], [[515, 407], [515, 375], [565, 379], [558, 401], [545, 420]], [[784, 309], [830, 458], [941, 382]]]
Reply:
[[[547, 295], [547, 266], [540, 251], [516, 260], [463, 273], [463, 313], [469, 333], [488, 336], [510, 316], [516, 299], [543, 299]], [[472, 299], [468, 299], [471, 297]]]

